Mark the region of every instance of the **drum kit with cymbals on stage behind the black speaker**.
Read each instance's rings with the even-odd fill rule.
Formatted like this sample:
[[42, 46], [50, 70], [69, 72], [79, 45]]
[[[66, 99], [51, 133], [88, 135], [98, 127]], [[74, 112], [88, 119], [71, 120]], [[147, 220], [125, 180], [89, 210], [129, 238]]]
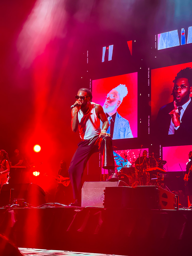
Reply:
[[[127, 161], [127, 155], [120, 160], [118, 156], [114, 156], [114, 160], [118, 160], [119, 165], [115, 166], [119, 180], [124, 181], [130, 187], [135, 186], [159, 186], [169, 190], [164, 184], [164, 175], [166, 171], [163, 166], [167, 163], [160, 158], [155, 158], [154, 153], [140, 157], [140, 163], [136, 164], [136, 159], [130, 159], [132, 163]], [[138, 163], [138, 162], [137, 162]]]

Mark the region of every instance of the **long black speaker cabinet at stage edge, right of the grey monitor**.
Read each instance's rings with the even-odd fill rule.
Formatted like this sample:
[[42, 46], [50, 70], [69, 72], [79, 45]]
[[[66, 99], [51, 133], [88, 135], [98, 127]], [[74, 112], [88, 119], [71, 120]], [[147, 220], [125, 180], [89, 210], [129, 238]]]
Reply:
[[105, 208], [178, 209], [175, 194], [156, 186], [106, 187]]

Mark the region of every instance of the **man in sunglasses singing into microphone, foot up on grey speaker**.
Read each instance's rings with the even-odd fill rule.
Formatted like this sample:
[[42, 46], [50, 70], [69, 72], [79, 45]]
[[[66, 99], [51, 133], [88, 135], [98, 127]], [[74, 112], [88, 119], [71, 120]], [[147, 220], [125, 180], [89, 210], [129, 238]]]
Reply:
[[[74, 153], [70, 166], [69, 177], [73, 188], [74, 203], [69, 206], [81, 206], [81, 177], [90, 156], [95, 152], [103, 155], [102, 166], [108, 169], [108, 181], [118, 181], [118, 175], [114, 172], [114, 158], [111, 137], [106, 133], [109, 122], [103, 108], [99, 104], [91, 102], [92, 93], [87, 88], [81, 88], [75, 96], [79, 105], [71, 111], [71, 129], [76, 132], [79, 129], [82, 141]], [[103, 123], [100, 128], [100, 120]]]

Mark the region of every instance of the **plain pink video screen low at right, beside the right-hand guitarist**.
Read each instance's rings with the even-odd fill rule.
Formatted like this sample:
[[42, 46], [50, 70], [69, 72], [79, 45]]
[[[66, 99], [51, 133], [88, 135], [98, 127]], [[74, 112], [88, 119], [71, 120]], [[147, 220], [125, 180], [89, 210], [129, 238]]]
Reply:
[[190, 151], [192, 151], [192, 145], [163, 147], [163, 160], [167, 161], [167, 164], [164, 165], [166, 171], [182, 172], [183, 170], [185, 173]]

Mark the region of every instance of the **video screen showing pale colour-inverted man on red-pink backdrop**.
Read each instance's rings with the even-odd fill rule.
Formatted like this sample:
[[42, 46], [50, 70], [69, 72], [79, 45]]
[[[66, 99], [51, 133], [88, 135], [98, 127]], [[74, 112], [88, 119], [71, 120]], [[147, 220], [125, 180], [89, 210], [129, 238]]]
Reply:
[[93, 80], [92, 94], [103, 106], [113, 140], [137, 137], [137, 72]]

